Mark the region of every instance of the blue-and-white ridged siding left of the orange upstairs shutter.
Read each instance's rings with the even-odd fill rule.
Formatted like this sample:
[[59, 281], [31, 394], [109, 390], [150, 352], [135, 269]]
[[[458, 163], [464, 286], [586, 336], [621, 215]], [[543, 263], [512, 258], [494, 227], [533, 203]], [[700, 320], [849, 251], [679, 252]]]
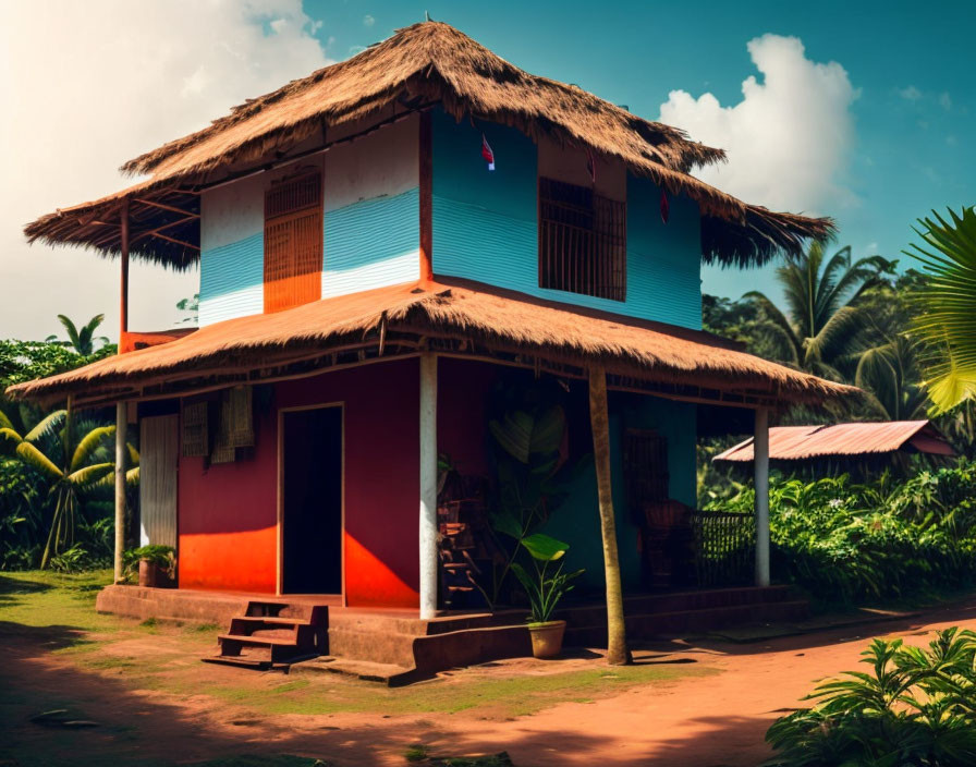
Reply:
[[264, 242], [253, 234], [200, 254], [200, 326], [264, 311]]

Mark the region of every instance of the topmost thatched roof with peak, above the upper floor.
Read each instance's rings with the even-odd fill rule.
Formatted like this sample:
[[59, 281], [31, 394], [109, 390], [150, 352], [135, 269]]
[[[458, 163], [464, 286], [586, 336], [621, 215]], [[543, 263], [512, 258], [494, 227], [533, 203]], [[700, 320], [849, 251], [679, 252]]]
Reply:
[[[706, 260], [761, 264], [778, 252], [796, 252], [805, 239], [822, 239], [832, 231], [829, 219], [746, 205], [690, 175], [696, 167], [722, 160], [721, 149], [693, 142], [680, 129], [643, 120], [576, 86], [529, 74], [447, 24], [424, 22], [131, 160], [123, 170], [148, 173], [148, 181], [44, 216], [25, 233], [30, 242], [89, 246], [112, 255], [120, 247], [118, 220], [124, 197], [199, 212], [198, 205], [176, 200], [183, 194], [180, 190], [198, 191], [231, 178], [231, 169], [237, 174], [269, 158], [286, 159], [302, 142], [357, 121], [389, 119], [435, 104], [459, 120], [500, 122], [536, 139], [545, 136], [588, 148], [624, 162], [632, 173], [652, 179], [672, 194], [687, 194], [701, 209]], [[172, 224], [178, 220], [172, 211], [144, 203], [135, 204], [133, 212], [138, 218], [134, 239], [142, 233], [134, 240], [133, 254], [175, 268], [198, 256], [198, 224]], [[174, 228], [168, 226], [160, 236], [154, 230], [163, 224]]]

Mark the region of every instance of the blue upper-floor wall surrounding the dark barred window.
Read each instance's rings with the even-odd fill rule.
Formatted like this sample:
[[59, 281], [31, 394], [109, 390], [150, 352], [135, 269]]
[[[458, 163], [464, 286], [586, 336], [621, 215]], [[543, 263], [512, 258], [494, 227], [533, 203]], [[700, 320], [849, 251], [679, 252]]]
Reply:
[[[701, 326], [698, 206], [671, 199], [660, 219], [660, 190], [627, 181], [627, 299], [625, 302], [546, 290], [538, 285], [536, 146], [515, 129], [456, 123], [432, 113], [434, 271], [529, 295], [656, 319]], [[496, 170], [481, 158], [481, 133]]]

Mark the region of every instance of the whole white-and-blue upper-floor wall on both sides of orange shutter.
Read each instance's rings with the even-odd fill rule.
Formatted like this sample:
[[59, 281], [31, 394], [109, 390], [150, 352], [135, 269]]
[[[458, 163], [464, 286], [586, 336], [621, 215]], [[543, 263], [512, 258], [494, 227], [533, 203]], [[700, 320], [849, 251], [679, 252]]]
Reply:
[[[304, 168], [322, 173], [322, 297], [416, 279], [419, 238], [413, 229], [419, 211], [412, 199], [398, 197], [419, 183], [418, 133], [419, 118], [412, 114], [325, 153], [205, 191], [199, 324], [264, 311], [265, 192], [278, 179]], [[390, 198], [398, 199], [385, 207], [357, 206]], [[390, 228], [396, 231], [376, 227], [376, 216], [389, 216]]]

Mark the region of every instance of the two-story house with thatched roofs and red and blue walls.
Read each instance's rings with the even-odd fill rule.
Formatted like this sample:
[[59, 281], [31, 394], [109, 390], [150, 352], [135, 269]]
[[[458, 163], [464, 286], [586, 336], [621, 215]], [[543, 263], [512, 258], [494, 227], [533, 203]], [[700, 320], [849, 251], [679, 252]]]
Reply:
[[[30, 241], [121, 256], [123, 353], [12, 393], [118, 403], [138, 424], [143, 539], [176, 548], [181, 589], [430, 616], [438, 455], [491, 476], [505, 386], [563, 392], [563, 452], [585, 460], [546, 529], [586, 568], [581, 589], [601, 587], [596, 376], [621, 577], [639, 591], [633, 507], [695, 506], [699, 430], [737, 412], [762, 433], [770, 410], [850, 391], [700, 330], [703, 263], [761, 265], [831, 230], [690, 174], [722, 158], [416, 24], [125, 166], [146, 181], [29, 224]], [[130, 331], [129, 258], [199, 265], [198, 330]], [[765, 535], [760, 509], [760, 584]]]

